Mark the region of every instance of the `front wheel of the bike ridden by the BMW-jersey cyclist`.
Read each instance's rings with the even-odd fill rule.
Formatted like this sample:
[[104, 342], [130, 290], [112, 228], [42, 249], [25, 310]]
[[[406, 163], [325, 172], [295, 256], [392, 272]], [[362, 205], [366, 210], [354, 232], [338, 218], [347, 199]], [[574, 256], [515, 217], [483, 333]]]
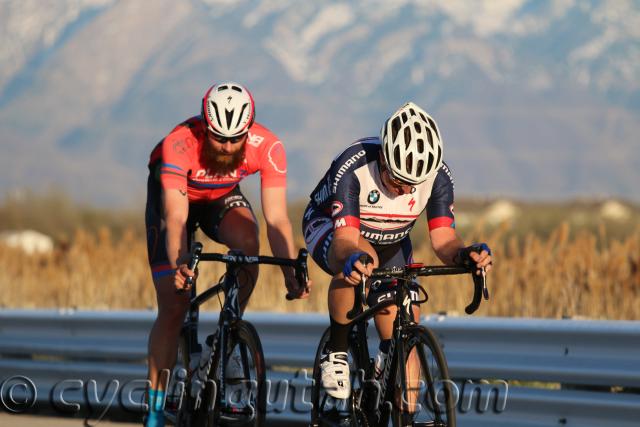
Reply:
[[[392, 368], [395, 384], [400, 390], [390, 387], [387, 401], [393, 402], [387, 422], [395, 426], [455, 427], [456, 408], [455, 384], [449, 378], [449, 369], [442, 347], [431, 330], [415, 325], [407, 329], [403, 340], [405, 374], [402, 378], [396, 352]], [[408, 378], [407, 381], [407, 377]], [[382, 425], [386, 425], [382, 423]]]

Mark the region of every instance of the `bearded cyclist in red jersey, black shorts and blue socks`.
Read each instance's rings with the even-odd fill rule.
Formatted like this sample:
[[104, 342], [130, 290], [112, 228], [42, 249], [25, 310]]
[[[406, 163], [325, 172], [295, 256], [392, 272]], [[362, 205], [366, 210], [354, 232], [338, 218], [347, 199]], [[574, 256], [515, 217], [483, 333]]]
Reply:
[[[295, 258], [287, 214], [285, 150], [269, 129], [254, 120], [250, 92], [237, 83], [209, 88], [199, 116], [176, 126], [151, 153], [147, 184], [147, 251], [158, 301], [158, 316], [149, 335], [151, 390], [147, 426], [164, 425], [160, 405], [166, 378], [173, 367], [177, 340], [188, 308], [186, 265], [188, 240], [200, 228], [211, 239], [245, 255], [258, 255], [258, 225], [240, 181], [256, 172], [261, 177], [262, 211], [269, 245], [275, 256]], [[258, 266], [241, 277], [241, 308], [256, 283]], [[282, 267], [289, 295], [306, 298], [310, 283], [297, 282], [291, 267]], [[306, 290], [305, 290], [306, 289]]]

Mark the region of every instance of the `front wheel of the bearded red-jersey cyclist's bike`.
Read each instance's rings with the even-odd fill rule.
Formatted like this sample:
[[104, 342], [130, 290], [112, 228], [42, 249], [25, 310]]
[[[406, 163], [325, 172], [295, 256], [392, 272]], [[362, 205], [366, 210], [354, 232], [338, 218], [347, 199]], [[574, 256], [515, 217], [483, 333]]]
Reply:
[[[242, 354], [244, 378], [225, 384], [227, 393], [229, 393], [227, 396], [229, 402], [222, 402], [221, 396], [217, 393], [220, 390], [218, 365], [221, 356], [220, 343], [217, 343], [212, 356], [212, 369], [208, 375], [210, 381], [207, 381], [204, 389], [204, 404], [196, 414], [194, 426], [261, 427], [265, 424], [267, 412], [266, 369], [260, 338], [253, 325], [244, 320], [236, 321], [229, 332], [227, 357], [234, 349], [239, 349]], [[244, 397], [248, 397], [248, 401], [240, 402]], [[235, 403], [243, 405], [236, 406]]]

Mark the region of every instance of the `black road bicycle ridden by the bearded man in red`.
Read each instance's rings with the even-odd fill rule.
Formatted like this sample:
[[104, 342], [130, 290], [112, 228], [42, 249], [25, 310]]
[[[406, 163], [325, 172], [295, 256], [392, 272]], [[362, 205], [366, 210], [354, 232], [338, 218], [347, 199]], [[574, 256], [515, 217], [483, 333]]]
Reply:
[[[296, 259], [245, 256], [238, 251], [202, 253], [202, 244], [194, 242], [189, 268], [195, 271], [201, 261], [223, 262], [226, 273], [200, 295], [190, 280], [191, 302], [180, 333], [165, 415], [180, 427], [262, 426], [266, 414], [264, 354], [255, 327], [242, 320], [238, 273], [249, 264], [291, 266], [298, 283], [306, 283], [307, 251], [301, 249]], [[220, 292], [225, 298], [218, 327], [203, 346], [198, 342], [200, 305]], [[233, 378], [227, 378], [229, 363], [235, 364]]]

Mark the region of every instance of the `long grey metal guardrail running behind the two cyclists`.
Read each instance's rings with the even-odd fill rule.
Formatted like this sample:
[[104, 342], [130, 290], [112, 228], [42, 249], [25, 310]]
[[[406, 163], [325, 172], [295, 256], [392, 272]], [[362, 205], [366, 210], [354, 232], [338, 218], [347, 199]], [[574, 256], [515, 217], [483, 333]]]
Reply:
[[[98, 410], [107, 406], [109, 393], [102, 393], [113, 390], [115, 384], [108, 385], [115, 379], [120, 392], [129, 387], [139, 398], [154, 317], [152, 312], [0, 311], [0, 381], [30, 378], [40, 406], [52, 404], [52, 390], [63, 380], [75, 387], [65, 392], [67, 402], [88, 399]], [[302, 372], [294, 379], [293, 371], [311, 368], [328, 317], [247, 313], [245, 318], [258, 329], [273, 386], [278, 380], [290, 386], [289, 403], [282, 394], [280, 400], [271, 398], [268, 420], [304, 425], [309, 393], [300, 393], [310, 381]], [[201, 315], [203, 337], [215, 330], [216, 320], [217, 313]], [[440, 338], [459, 386], [462, 427], [638, 425], [640, 322], [431, 316], [424, 324]], [[370, 335], [375, 336], [373, 328]], [[93, 400], [91, 387], [97, 388]], [[7, 387], [0, 391], [6, 394]]]

